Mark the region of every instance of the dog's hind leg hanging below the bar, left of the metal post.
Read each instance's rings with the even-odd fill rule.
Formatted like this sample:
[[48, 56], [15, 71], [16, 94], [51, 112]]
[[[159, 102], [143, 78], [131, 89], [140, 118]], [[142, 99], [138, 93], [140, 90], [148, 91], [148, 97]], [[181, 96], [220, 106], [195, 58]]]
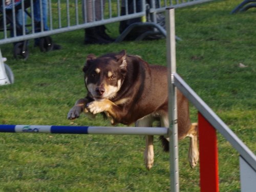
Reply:
[[[148, 115], [146, 117], [143, 117], [139, 120], [136, 121], [135, 126], [138, 127], [152, 127], [154, 118], [152, 115]], [[153, 135], [146, 135], [146, 148], [144, 152], [144, 161], [146, 168], [150, 170], [153, 167], [154, 163], [154, 145], [153, 145], [153, 140], [154, 136]]]

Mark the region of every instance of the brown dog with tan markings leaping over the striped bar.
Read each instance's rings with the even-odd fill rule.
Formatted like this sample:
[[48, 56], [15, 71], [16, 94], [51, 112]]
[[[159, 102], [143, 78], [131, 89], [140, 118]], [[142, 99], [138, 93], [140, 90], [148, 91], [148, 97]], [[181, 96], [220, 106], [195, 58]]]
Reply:
[[[78, 118], [81, 112], [104, 112], [112, 124], [123, 123], [150, 127], [159, 120], [168, 127], [168, 86], [166, 67], [148, 65], [138, 56], [110, 53], [101, 57], [88, 55], [83, 68], [84, 82], [88, 90], [68, 114], [68, 119]], [[177, 92], [179, 139], [190, 137], [189, 163], [195, 167], [199, 152], [197, 123], [190, 123], [188, 100]], [[146, 136], [144, 160], [147, 169], [154, 162], [153, 136]], [[168, 150], [168, 138], [160, 137], [164, 150]]]

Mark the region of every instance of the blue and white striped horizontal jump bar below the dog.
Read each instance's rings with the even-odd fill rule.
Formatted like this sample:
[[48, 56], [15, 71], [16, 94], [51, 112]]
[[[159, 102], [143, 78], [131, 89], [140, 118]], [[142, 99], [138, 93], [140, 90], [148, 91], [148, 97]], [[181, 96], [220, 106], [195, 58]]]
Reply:
[[2, 133], [108, 134], [108, 135], [167, 135], [166, 127], [109, 127], [55, 125], [0, 125]]

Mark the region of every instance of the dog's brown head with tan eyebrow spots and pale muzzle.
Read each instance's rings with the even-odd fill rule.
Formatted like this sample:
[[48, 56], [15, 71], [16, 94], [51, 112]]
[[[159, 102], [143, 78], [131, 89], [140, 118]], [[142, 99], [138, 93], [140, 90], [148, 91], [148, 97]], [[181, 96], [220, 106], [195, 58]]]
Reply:
[[95, 100], [114, 98], [126, 74], [126, 52], [87, 56], [83, 67], [84, 82]]

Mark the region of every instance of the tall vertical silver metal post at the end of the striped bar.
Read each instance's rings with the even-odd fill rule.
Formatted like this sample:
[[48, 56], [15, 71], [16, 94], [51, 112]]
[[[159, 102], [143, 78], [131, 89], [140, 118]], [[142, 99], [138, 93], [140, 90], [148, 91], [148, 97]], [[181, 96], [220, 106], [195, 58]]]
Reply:
[[168, 113], [169, 113], [169, 150], [170, 150], [170, 191], [178, 192], [179, 186], [179, 148], [177, 124], [177, 89], [174, 86], [176, 73], [175, 10], [166, 9], [166, 54], [168, 65]]

